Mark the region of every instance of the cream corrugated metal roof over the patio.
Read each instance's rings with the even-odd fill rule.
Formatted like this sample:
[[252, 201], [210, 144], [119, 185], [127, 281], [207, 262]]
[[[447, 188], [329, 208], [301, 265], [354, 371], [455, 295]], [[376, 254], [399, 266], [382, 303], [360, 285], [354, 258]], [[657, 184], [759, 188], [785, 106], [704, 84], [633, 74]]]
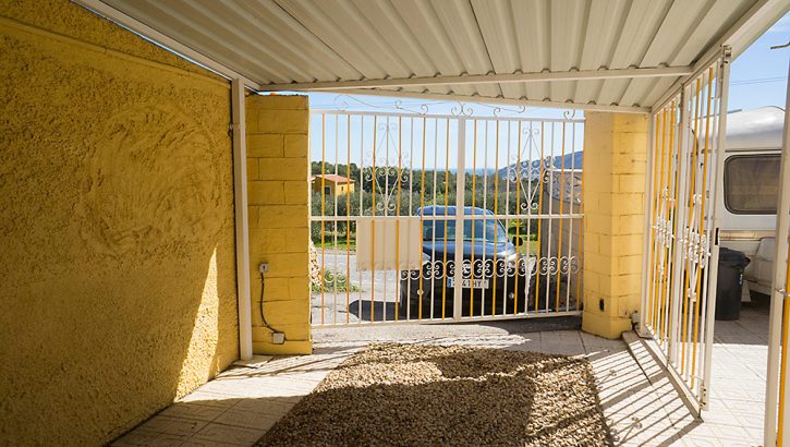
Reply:
[[[788, 0], [101, 0], [262, 89], [269, 84], [686, 67]], [[82, 0], [88, 3], [88, 0]], [[649, 107], [679, 76], [378, 90]], [[280, 86], [282, 87], [282, 86]]]

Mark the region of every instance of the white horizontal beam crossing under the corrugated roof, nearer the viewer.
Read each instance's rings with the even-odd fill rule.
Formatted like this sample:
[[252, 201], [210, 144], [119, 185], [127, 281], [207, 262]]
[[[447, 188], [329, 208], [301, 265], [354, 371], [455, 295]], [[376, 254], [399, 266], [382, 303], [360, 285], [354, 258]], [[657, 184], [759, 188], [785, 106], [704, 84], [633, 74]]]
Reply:
[[347, 88], [413, 87], [418, 85], [507, 84], [548, 81], [616, 80], [634, 77], [677, 77], [691, 74], [691, 67], [654, 69], [575, 70], [561, 72], [467, 74], [461, 76], [396, 77], [360, 81], [317, 81], [290, 84], [262, 84], [262, 92], [319, 92]]

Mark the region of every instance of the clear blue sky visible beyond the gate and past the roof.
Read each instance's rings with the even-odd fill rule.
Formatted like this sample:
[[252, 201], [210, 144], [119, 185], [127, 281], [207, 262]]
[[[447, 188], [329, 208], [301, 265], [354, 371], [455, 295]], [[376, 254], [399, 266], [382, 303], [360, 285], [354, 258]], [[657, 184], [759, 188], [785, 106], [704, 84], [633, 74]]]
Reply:
[[[730, 98], [729, 110], [736, 109], [753, 109], [764, 106], [778, 106], [785, 108], [787, 75], [788, 75], [788, 56], [790, 48], [770, 49], [771, 46], [787, 44], [790, 40], [790, 13], [779, 20], [771, 26], [762, 37], [752, 44], [746, 51], [738, 57], [732, 63], [730, 70]], [[396, 106], [406, 110], [420, 112], [421, 107], [426, 105], [429, 107], [430, 113], [450, 114], [453, 108], [459, 107], [459, 102], [453, 101], [432, 101], [412, 98], [384, 98], [375, 96], [347, 96], [337, 94], [308, 94], [311, 97], [311, 108], [320, 109], [344, 109], [350, 111], [378, 110], [393, 112], [397, 111]], [[469, 107], [474, 110], [475, 116], [490, 117], [497, 106], [482, 105], [469, 102]], [[515, 110], [513, 106], [502, 106], [503, 111], [500, 114], [508, 114], [508, 110]], [[545, 109], [545, 108], [527, 108], [525, 113], [518, 114], [521, 118], [562, 118], [562, 110]], [[576, 118], [582, 118], [583, 113], [578, 113]], [[337, 120], [337, 121], [336, 121]], [[384, 119], [381, 119], [384, 120]], [[397, 123], [391, 119], [389, 124], [384, 121], [377, 121], [377, 144], [376, 159], [377, 166], [387, 164], [397, 164], [397, 147], [402, 147], [403, 154], [414, 154], [414, 160], [409, 162], [418, 162], [422, 150], [422, 123], [403, 122], [403, 142], [399, 140], [399, 131]], [[530, 132], [522, 129], [522, 150], [519, 155], [518, 147], [518, 128], [506, 128], [507, 123], [500, 126], [500, 153], [499, 157], [489, 155], [484, 164], [482, 160], [485, 146], [489, 146], [489, 154], [496, 147], [496, 123], [478, 124], [478, 159], [475, 169], [479, 169], [485, 165], [487, 168], [502, 168], [515, 162], [520, 157], [521, 160], [526, 158], [539, 158], [540, 140], [527, 137]], [[344, 164], [348, 159], [347, 153], [351, 153], [351, 160], [357, 165], [363, 161], [365, 166], [369, 166], [372, 159], [373, 147], [373, 119], [365, 124], [361, 124], [360, 118], [351, 120], [351, 141], [347, 138], [348, 121], [344, 117], [336, 118], [336, 116], [327, 116], [325, 129], [321, 129], [321, 121], [314, 119], [311, 123], [311, 131], [314, 137], [311, 138], [311, 158], [313, 160], [321, 159], [321, 150], [326, 150], [327, 162]], [[447, 121], [427, 120], [426, 123], [426, 169], [455, 169], [458, 166], [457, 154], [453, 147], [458, 142], [458, 132], [455, 123], [450, 124], [450, 132], [447, 132]], [[484, 126], [488, 128], [487, 134]], [[512, 124], [507, 124], [512, 125]], [[335, 128], [338, 128], [336, 134]], [[414, 131], [412, 132], [412, 126]], [[566, 144], [562, 145], [562, 126], [552, 125], [546, 129], [543, 136], [544, 155], [561, 155], [582, 149], [582, 131], [583, 124], [576, 124], [575, 131], [570, 126], [566, 129]], [[364, 135], [363, 133], [364, 128]], [[393, 131], [396, 130], [396, 131]], [[326, 146], [321, 147], [321, 135], [324, 132]], [[472, 128], [469, 128], [466, 135], [466, 169], [473, 168], [471, 150], [474, 145], [472, 136]], [[532, 133], [535, 134], [534, 132]], [[448, 142], [450, 138], [449, 157], [447, 154]], [[527, 140], [530, 140], [527, 142]], [[350, 143], [350, 145], [349, 145]], [[563, 147], [564, 146], [564, 147]], [[336, 153], [337, 147], [337, 155]], [[404, 161], [405, 164], [405, 161]], [[414, 166], [420, 168], [420, 166]], [[339, 172], [342, 174], [342, 172]]]

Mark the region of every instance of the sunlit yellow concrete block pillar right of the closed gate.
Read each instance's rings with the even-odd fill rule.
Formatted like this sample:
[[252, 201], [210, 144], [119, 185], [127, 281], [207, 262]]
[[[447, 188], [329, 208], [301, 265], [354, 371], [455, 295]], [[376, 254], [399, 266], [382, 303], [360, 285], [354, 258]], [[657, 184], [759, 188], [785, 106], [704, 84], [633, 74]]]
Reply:
[[582, 329], [619, 338], [640, 306], [647, 116], [585, 118]]

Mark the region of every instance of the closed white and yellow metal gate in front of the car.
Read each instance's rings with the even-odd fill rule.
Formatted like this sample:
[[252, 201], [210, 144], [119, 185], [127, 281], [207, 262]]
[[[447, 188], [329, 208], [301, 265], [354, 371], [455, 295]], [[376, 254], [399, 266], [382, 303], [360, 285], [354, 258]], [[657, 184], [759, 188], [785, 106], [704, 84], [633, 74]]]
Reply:
[[457, 110], [312, 114], [314, 325], [580, 314], [583, 120]]

